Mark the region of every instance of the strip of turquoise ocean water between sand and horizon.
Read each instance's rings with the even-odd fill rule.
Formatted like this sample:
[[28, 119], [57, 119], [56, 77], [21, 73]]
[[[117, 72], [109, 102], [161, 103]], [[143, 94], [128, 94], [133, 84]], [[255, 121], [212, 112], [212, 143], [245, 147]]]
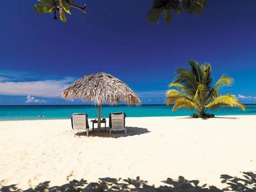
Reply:
[[[246, 105], [246, 108], [246, 112], [238, 108], [222, 108], [212, 113], [215, 115], [256, 115], [256, 105]], [[164, 105], [102, 106], [101, 109], [102, 117], [108, 117], [110, 112], [125, 112], [127, 117], [186, 116], [194, 113], [192, 110], [172, 112], [172, 106]], [[0, 106], [0, 121], [69, 119], [72, 113], [78, 112], [88, 113], [89, 118], [96, 118], [97, 106]]]

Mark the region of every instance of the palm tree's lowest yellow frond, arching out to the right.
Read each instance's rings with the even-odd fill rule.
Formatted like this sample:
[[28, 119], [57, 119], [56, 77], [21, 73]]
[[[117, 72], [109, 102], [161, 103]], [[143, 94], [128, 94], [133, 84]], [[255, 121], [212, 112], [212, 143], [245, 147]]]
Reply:
[[241, 108], [243, 111], [245, 111], [245, 106], [241, 104], [241, 102], [239, 102], [234, 95], [231, 95], [231, 94], [219, 96], [218, 98], [210, 102], [210, 104], [206, 105], [206, 108], [215, 109], [215, 108], [220, 108], [222, 106], [229, 106], [232, 108], [238, 107], [238, 108]]

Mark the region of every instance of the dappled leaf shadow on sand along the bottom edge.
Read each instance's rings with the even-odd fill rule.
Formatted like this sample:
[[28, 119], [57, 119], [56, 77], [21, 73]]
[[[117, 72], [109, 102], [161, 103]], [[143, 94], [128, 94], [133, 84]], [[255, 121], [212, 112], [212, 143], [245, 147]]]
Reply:
[[29, 189], [19, 189], [17, 185], [3, 186], [0, 183], [0, 191], [170, 191], [170, 192], [255, 192], [256, 191], [256, 174], [253, 172], [243, 172], [243, 177], [232, 177], [228, 175], [220, 176], [222, 183], [227, 187], [218, 189], [213, 185], [200, 184], [198, 180], [187, 180], [180, 176], [178, 179], [167, 178], [162, 181], [163, 185], [155, 187], [140, 177], [136, 179], [115, 179], [110, 177], [99, 178], [97, 182], [88, 183], [86, 180], [69, 181], [61, 186], [50, 186], [50, 181], [39, 183], [36, 187]]

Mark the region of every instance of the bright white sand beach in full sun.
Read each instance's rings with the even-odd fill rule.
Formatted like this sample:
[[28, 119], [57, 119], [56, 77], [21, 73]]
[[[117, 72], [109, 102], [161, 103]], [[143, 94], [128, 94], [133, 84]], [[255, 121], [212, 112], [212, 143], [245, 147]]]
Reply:
[[60, 186], [139, 176], [157, 187], [182, 176], [223, 189], [222, 174], [256, 171], [256, 115], [128, 117], [126, 123], [127, 137], [101, 131], [74, 138], [68, 119], [0, 121], [0, 183], [28, 189], [44, 181]]

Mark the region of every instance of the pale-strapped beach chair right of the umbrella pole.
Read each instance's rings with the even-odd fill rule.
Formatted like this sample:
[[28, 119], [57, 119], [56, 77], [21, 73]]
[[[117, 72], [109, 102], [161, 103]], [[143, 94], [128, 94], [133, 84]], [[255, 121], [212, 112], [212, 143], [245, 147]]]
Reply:
[[125, 129], [125, 113], [123, 112], [117, 112], [117, 113], [111, 113], [111, 129], [110, 129], [110, 135], [111, 131], [125, 131], [125, 135], [127, 133], [127, 129]]

